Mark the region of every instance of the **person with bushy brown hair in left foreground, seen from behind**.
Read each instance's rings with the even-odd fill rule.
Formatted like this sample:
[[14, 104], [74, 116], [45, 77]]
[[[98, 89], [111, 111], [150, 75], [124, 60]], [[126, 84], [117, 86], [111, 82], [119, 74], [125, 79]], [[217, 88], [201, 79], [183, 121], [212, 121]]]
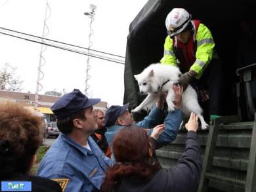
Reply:
[[41, 118], [26, 106], [0, 101], [0, 181], [31, 182], [32, 191], [62, 191], [52, 180], [29, 175], [42, 126]]

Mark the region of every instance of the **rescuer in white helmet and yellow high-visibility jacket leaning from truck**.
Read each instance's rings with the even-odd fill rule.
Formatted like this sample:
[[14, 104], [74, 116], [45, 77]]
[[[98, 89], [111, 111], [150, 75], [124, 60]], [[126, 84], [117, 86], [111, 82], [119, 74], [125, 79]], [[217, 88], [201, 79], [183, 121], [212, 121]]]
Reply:
[[160, 62], [179, 67], [183, 73], [179, 84], [184, 90], [188, 84], [202, 90], [200, 100], [209, 99], [212, 121], [221, 114], [221, 60], [214, 52], [211, 31], [200, 20], [191, 18], [184, 8], [173, 8], [169, 12], [165, 20], [168, 35]]

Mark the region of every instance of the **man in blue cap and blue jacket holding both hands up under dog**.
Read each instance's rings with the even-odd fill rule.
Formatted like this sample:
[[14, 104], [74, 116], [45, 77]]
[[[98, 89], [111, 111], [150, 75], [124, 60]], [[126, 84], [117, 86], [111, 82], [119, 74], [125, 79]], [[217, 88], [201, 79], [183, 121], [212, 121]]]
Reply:
[[[181, 97], [183, 88], [180, 86], [173, 86], [173, 90], [175, 92], [175, 111], [168, 112], [165, 120], [163, 122], [163, 118], [165, 112], [163, 111], [163, 103], [165, 101], [165, 97], [161, 97], [160, 101], [156, 104], [156, 106], [150, 111], [148, 116], [144, 118], [144, 120], [137, 122], [136, 124], [139, 127], [149, 129], [148, 135], [152, 133], [152, 128], [158, 124], [164, 123], [165, 130], [156, 140], [156, 148], [160, 148], [161, 146], [168, 144], [172, 140], [174, 140], [179, 131], [179, 126], [181, 125], [182, 113], [179, 110], [181, 105]], [[119, 106], [112, 105], [106, 111], [105, 115], [105, 125], [107, 127], [107, 132], [105, 133], [106, 138], [108, 140], [108, 144], [112, 149], [112, 140], [116, 135], [117, 131], [123, 129], [123, 127], [127, 125], [131, 125], [135, 123], [133, 120], [133, 115], [128, 112], [127, 108], [129, 103]]]

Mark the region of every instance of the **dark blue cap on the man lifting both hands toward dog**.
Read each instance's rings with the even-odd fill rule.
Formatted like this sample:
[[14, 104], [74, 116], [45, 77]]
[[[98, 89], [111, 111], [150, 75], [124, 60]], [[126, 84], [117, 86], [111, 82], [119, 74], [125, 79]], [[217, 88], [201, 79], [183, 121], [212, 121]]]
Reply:
[[123, 106], [119, 106], [119, 105], [110, 106], [110, 108], [108, 108], [105, 114], [105, 126], [110, 127], [114, 125], [117, 118], [127, 110], [128, 106], [129, 106], [129, 103], [124, 104]]

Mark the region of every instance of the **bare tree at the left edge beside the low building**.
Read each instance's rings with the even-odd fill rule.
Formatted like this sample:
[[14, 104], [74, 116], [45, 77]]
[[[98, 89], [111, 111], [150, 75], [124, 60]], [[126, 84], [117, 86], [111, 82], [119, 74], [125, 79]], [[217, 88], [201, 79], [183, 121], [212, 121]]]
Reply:
[[0, 89], [7, 91], [21, 91], [22, 80], [15, 74], [16, 67], [5, 63], [5, 67], [0, 69]]

